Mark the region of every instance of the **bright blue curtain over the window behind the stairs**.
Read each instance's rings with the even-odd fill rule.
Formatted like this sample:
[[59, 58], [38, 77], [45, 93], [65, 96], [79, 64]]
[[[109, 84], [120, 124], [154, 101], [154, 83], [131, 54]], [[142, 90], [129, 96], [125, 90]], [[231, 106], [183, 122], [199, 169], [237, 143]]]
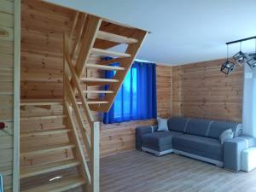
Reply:
[[[119, 66], [114, 63], [113, 66]], [[113, 78], [115, 72], [107, 71], [106, 78]], [[108, 90], [108, 86], [105, 87]], [[135, 61], [115, 97], [113, 106], [104, 113], [105, 124], [137, 119], [156, 118], [156, 74], [155, 64]]]

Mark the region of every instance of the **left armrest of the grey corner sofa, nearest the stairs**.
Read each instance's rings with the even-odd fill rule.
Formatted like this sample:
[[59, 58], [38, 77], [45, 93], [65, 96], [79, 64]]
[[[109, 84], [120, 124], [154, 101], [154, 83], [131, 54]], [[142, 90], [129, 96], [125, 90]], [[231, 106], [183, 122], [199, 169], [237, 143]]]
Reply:
[[142, 136], [146, 133], [157, 131], [157, 125], [140, 126], [136, 128], [136, 148], [142, 150]]

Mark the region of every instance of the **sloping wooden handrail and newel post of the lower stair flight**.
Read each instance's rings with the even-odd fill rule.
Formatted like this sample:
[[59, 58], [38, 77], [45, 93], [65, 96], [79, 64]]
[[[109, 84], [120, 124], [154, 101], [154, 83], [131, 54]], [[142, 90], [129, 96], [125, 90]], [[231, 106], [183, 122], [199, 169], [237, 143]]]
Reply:
[[[68, 107], [72, 108], [73, 112], [75, 113], [75, 117], [79, 124], [79, 130], [81, 131], [81, 134], [82, 134], [85, 150], [90, 160], [90, 176], [85, 174], [87, 177], [90, 177], [89, 190], [91, 192], [99, 192], [100, 122], [96, 122], [95, 119], [93, 118], [88, 102], [85, 99], [78, 74], [76, 73], [75, 66], [73, 64], [73, 60], [70, 54], [70, 46], [69, 46], [71, 44], [72, 38], [68, 38], [67, 34], [65, 33], [63, 41], [64, 41], [63, 42], [64, 43], [63, 76], [64, 76], [64, 82], [65, 82], [64, 92], [68, 93], [68, 99], [72, 103], [71, 105], [68, 105]], [[78, 93], [81, 106], [85, 115], [82, 115], [82, 113], [80, 113], [78, 103], [77, 103], [76, 93]], [[67, 97], [64, 96], [64, 100], [66, 99]], [[84, 119], [84, 116], [85, 116], [85, 119]], [[83, 119], [88, 122], [90, 133], [86, 131], [86, 127]]]

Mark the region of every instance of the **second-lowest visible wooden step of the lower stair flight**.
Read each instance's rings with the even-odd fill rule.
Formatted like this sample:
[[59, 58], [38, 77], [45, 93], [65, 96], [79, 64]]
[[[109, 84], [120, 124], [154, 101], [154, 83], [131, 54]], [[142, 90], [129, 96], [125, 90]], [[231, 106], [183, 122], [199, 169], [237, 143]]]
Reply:
[[20, 178], [37, 176], [48, 172], [56, 172], [79, 165], [80, 163], [78, 160], [63, 160], [60, 162], [47, 163], [37, 166], [26, 166], [20, 169]]

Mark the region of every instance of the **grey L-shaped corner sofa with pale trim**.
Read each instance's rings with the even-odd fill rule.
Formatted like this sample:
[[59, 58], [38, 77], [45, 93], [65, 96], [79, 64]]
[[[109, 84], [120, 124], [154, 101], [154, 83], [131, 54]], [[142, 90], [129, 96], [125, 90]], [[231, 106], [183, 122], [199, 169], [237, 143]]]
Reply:
[[[137, 127], [137, 149], [159, 156], [174, 152], [239, 171], [241, 150], [256, 144], [253, 137], [241, 136], [239, 123], [173, 117], [167, 124], [169, 131], [157, 131], [157, 125]], [[219, 136], [228, 129], [235, 137], [221, 144]]]

